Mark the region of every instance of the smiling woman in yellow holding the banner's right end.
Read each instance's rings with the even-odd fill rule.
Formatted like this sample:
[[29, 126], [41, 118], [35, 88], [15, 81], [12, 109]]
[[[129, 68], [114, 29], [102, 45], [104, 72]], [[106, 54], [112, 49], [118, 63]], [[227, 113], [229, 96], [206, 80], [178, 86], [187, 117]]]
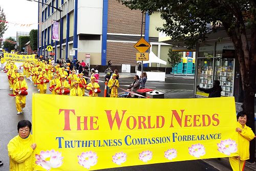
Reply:
[[238, 155], [235, 157], [229, 157], [229, 162], [234, 171], [244, 170], [245, 161], [249, 159], [249, 144], [255, 135], [251, 128], [246, 125], [247, 115], [244, 111], [241, 111], [237, 115], [237, 128], [238, 132]]

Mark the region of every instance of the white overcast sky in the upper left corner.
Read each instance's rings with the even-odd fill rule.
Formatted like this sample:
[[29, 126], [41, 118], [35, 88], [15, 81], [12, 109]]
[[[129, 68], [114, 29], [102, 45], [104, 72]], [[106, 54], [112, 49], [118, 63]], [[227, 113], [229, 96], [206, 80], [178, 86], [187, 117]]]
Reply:
[[[4, 9], [7, 22], [17, 24], [34, 24], [38, 23], [38, 3], [29, 2], [27, 0], [0, 0], [0, 6]], [[14, 26], [7, 24], [4, 37], [16, 37], [17, 31], [30, 32], [32, 29], [37, 29], [37, 24], [30, 27]]]

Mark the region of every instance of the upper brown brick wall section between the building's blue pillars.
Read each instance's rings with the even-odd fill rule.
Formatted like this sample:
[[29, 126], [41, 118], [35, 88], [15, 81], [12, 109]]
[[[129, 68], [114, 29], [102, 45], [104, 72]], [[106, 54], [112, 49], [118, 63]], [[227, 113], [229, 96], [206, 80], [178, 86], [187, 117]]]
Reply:
[[[108, 33], [139, 34], [142, 14], [140, 10], [131, 10], [116, 0], [109, 0]], [[145, 15], [143, 17], [145, 22]], [[142, 34], [144, 34], [145, 23]]]

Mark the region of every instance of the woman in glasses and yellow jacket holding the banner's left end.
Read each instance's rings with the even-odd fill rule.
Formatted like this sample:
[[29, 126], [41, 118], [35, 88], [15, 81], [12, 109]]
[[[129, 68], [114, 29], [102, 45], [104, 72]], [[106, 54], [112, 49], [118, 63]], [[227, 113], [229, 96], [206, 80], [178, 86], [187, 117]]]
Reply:
[[7, 145], [10, 158], [10, 171], [33, 171], [35, 148], [31, 132], [32, 124], [28, 120], [18, 122], [18, 135]]

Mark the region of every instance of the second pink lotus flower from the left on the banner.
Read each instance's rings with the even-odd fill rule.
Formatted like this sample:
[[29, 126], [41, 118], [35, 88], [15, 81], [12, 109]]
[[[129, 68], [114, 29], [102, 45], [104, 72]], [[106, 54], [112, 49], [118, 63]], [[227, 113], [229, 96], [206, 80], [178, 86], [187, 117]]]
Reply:
[[94, 166], [98, 162], [98, 156], [95, 152], [89, 151], [89, 152], [82, 152], [81, 156], [78, 157], [78, 163], [86, 167], [87, 169], [90, 169], [91, 166]]

